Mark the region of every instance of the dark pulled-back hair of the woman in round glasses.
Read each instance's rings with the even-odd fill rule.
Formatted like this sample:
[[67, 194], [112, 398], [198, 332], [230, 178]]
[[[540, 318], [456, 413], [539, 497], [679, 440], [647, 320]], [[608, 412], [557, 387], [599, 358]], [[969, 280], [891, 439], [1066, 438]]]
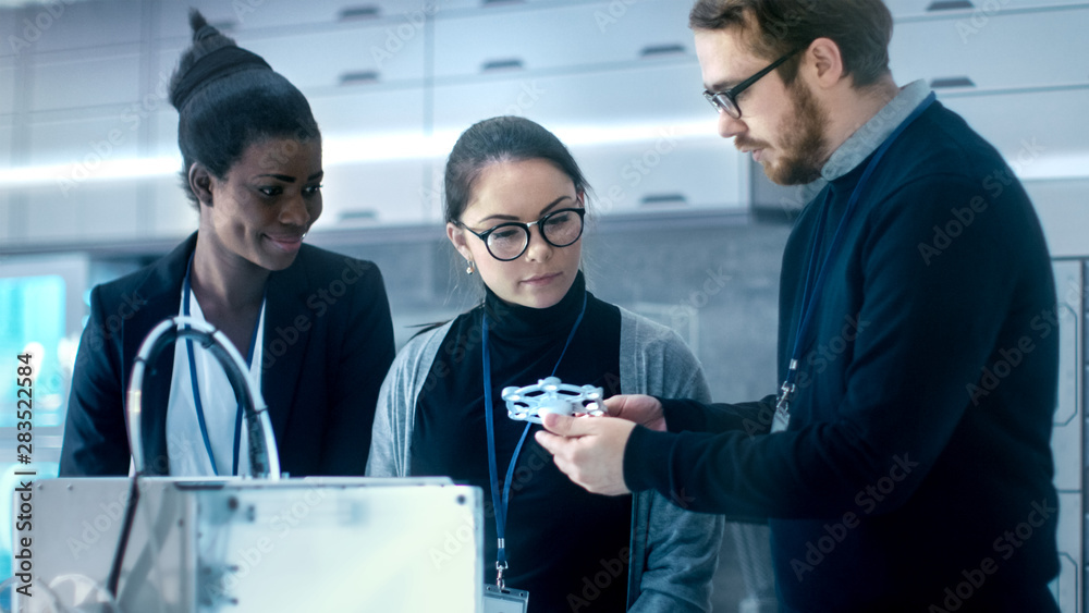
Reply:
[[552, 162], [575, 184], [575, 192], [589, 189], [571, 151], [554, 134], [526, 118], [506, 115], [486, 119], [462, 133], [446, 159], [444, 207], [446, 221], [458, 221], [473, 194], [473, 183], [497, 162], [543, 159]]

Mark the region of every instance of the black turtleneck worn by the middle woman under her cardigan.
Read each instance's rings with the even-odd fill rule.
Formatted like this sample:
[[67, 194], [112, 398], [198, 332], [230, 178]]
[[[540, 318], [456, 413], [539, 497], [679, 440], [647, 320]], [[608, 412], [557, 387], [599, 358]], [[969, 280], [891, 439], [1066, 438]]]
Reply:
[[[583, 308], [583, 322], [556, 360]], [[620, 309], [586, 291], [582, 272], [560, 303], [510, 305], [490, 290], [484, 305], [454, 320], [417, 400], [412, 440], [415, 476], [445, 475], [484, 490], [485, 580], [495, 580], [495, 517], [488, 475], [481, 321], [488, 317], [500, 488], [526, 428], [506, 416], [503, 388], [552, 375], [564, 383], [620, 393]], [[518, 455], [506, 523], [506, 585], [529, 591], [529, 610], [624, 611], [632, 528], [631, 496], [590, 494], [574, 485], [534, 440]], [[502, 489], [500, 490], [502, 491]], [[588, 603], [588, 604], [587, 604]]]

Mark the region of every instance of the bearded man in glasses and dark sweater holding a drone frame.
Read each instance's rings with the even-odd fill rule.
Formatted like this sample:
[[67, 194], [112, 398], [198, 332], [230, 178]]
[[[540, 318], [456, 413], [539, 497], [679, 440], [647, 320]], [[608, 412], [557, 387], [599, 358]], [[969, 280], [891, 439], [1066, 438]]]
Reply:
[[[766, 517], [784, 611], [1059, 611], [1044, 236], [999, 152], [889, 70], [880, 0], [699, 0], [719, 133], [828, 183], [780, 283], [778, 393], [550, 415], [572, 480]], [[769, 390], [771, 391], [771, 390]]]

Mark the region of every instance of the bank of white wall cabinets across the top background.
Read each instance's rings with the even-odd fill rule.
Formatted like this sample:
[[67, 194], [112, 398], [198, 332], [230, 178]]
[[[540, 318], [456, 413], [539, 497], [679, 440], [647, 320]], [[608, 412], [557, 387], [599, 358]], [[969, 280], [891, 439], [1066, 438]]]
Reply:
[[[1023, 176], [1053, 176], [1056, 164], [1085, 159], [1089, 122], [1078, 118], [1089, 108], [1089, 3], [941, 1], [962, 8], [890, 1], [897, 82], [972, 79], [975, 89], [939, 89], [941, 100]], [[450, 146], [473, 123], [499, 114], [554, 131], [605, 214], [664, 211], [681, 201], [690, 209], [748, 206], [744, 161], [715, 135], [700, 96], [690, 2], [676, 0], [88, 0], [53, 7], [64, 12], [41, 16], [48, 27], [35, 25], [48, 3], [5, 9], [0, 122], [9, 121], [0, 123], [0, 162], [72, 164], [61, 179], [78, 180], [94, 176], [100, 160], [180, 157], [167, 84], [189, 44], [191, 5], [310, 101], [328, 172], [322, 226], [438, 221]], [[40, 33], [16, 57], [11, 41], [25, 38], [24, 29], [34, 34], [27, 24]], [[28, 109], [21, 109], [24, 99]], [[17, 157], [13, 125], [25, 130], [27, 148]], [[132, 237], [192, 228], [178, 182], [174, 173], [142, 189], [137, 180], [112, 182], [120, 203], [137, 193], [156, 199], [131, 217]], [[77, 192], [106, 194], [90, 183], [76, 181]], [[82, 213], [63, 196], [38, 210], [57, 185], [32, 191], [39, 193], [12, 198], [34, 209], [14, 216], [19, 228], [30, 228], [35, 240], [39, 229], [47, 237], [75, 231], [69, 224]], [[84, 200], [106, 203], [110, 217], [129, 210], [105, 195]], [[45, 223], [59, 211], [68, 212]], [[1064, 232], [1056, 225], [1049, 240], [1074, 250]]]

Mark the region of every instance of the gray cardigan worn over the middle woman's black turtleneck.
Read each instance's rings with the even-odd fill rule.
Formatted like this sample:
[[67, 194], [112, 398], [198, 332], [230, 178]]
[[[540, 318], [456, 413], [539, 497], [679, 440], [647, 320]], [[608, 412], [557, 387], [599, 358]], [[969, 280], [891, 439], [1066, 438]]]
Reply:
[[[393, 361], [378, 395], [368, 476], [408, 475], [416, 399], [452, 323], [411, 340]], [[699, 361], [675, 332], [622, 308], [620, 339], [622, 393], [708, 402]], [[682, 511], [653, 491], [633, 496], [628, 610], [710, 611], [722, 516]], [[673, 502], [683, 505], [683, 495]]]

